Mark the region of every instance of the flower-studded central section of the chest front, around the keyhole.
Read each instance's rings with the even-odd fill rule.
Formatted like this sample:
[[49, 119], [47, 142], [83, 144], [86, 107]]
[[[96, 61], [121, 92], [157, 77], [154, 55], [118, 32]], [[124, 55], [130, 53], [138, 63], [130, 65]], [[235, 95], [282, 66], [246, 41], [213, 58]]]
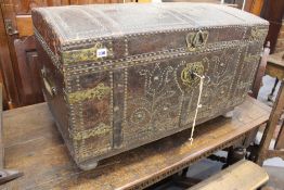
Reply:
[[206, 76], [197, 119], [240, 103], [232, 97], [241, 54], [246, 48], [242, 45], [125, 68], [122, 144], [189, 127], [196, 110], [199, 79], [188, 76], [188, 81], [184, 73], [194, 71]]

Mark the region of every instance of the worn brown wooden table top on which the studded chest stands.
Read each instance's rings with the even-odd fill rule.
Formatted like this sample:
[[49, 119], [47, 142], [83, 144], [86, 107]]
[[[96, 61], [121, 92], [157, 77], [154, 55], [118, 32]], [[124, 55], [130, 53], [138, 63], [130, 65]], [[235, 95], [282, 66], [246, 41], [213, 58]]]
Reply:
[[218, 117], [190, 130], [106, 159], [90, 172], [76, 167], [46, 103], [3, 113], [5, 168], [24, 172], [8, 189], [141, 189], [231, 145], [269, 118], [270, 107], [251, 99], [233, 118]]

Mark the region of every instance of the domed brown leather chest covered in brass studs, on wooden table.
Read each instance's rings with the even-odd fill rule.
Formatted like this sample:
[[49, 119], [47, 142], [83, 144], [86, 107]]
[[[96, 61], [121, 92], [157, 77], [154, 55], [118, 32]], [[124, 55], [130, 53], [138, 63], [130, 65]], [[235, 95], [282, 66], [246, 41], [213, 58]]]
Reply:
[[203, 3], [33, 10], [42, 87], [82, 169], [245, 100], [268, 22]]

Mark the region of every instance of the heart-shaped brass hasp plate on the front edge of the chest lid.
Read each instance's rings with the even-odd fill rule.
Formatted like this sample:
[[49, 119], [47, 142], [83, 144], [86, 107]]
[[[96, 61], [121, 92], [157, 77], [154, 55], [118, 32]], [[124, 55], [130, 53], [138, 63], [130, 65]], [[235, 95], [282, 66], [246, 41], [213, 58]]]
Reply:
[[189, 33], [186, 36], [186, 43], [189, 51], [196, 51], [204, 49], [208, 39], [208, 31]]

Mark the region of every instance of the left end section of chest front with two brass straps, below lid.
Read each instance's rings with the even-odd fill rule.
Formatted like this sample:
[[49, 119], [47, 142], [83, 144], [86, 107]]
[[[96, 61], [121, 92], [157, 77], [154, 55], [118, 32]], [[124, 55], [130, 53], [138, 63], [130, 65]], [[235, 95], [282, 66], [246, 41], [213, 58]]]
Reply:
[[113, 148], [113, 73], [67, 76], [69, 136], [77, 162]]

